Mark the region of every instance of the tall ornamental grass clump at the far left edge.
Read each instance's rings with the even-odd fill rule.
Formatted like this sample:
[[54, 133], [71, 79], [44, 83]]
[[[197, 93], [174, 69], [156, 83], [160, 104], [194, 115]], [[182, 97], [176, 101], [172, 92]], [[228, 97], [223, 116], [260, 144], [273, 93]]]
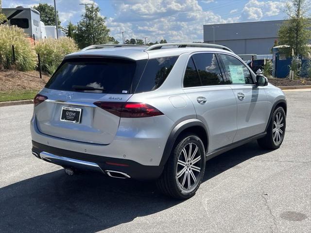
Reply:
[[12, 67], [12, 45], [16, 68], [21, 71], [35, 69], [37, 58], [30, 39], [21, 28], [8, 25], [0, 25], [0, 69]]

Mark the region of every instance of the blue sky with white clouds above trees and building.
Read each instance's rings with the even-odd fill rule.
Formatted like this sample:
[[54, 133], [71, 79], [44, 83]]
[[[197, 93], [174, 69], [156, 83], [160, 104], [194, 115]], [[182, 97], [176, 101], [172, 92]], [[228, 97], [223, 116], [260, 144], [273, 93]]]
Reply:
[[[311, 1], [311, 0], [307, 0]], [[62, 26], [77, 24], [85, 12], [80, 3], [95, 2], [106, 17], [110, 35], [122, 41], [203, 42], [203, 25], [284, 19], [286, 0], [56, 0]], [[2, 0], [2, 7], [53, 5], [53, 0]]]

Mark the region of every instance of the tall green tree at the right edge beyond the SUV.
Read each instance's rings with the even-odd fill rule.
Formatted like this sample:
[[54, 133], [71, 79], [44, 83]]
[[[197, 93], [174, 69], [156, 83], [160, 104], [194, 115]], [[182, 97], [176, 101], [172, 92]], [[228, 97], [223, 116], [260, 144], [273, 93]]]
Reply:
[[295, 55], [305, 55], [310, 50], [306, 46], [311, 39], [311, 18], [308, 13], [310, 8], [307, 0], [291, 0], [291, 3], [287, 3], [285, 11], [288, 20], [278, 31], [279, 44], [293, 48]]

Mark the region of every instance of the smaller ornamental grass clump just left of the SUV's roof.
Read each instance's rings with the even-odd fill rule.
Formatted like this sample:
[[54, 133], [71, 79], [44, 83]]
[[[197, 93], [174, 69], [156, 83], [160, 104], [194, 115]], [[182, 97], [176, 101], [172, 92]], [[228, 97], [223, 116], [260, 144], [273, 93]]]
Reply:
[[40, 54], [41, 68], [50, 75], [54, 73], [65, 55], [76, 50], [77, 45], [68, 37], [39, 40], [35, 44], [35, 51]]

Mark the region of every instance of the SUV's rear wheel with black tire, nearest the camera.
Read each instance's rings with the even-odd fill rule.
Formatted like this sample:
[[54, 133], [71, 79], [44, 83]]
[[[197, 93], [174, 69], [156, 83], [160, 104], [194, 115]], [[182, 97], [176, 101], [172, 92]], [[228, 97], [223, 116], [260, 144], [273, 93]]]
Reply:
[[[194, 144], [196, 145], [196, 147], [194, 146]], [[189, 150], [192, 150], [190, 154], [192, 155], [194, 154], [192, 157], [193, 162], [199, 159], [199, 156], [200, 156], [200, 160], [195, 162], [193, 165], [190, 165], [190, 160], [188, 160], [189, 161], [188, 165], [186, 163], [185, 165], [181, 165], [180, 163], [178, 163], [177, 165], [178, 159], [180, 159], [179, 161], [187, 160], [183, 152], [184, 148], [185, 150], [188, 150], [188, 152]], [[173, 147], [173, 151], [164, 167], [163, 173], [156, 182], [157, 188], [163, 194], [173, 197], [175, 199], [188, 199], [192, 197], [195, 194], [195, 192], [198, 190], [202, 182], [204, 172], [205, 172], [205, 162], [206, 162], [205, 150], [204, 150], [204, 145], [201, 139], [193, 133], [183, 134], [176, 140], [176, 143]], [[197, 168], [195, 168], [198, 166], [200, 166], [201, 168], [200, 171], [197, 171]], [[186, 181], [184, 181], [184, 185], [186, 184], [189, 185], [188, 186], [189, 189], [187, 190], [181, 187], [181, 184], [177, 178], [177, 169], [179, 169], [180, 167], [181, 167], [181, 170], [185, 169], [184, 173], [182, 173], [180, 170], [181, 174], [184, 174], [184, 177], [180, 177], [180, 179], [187, 179], [187, 183]], [[194, 179], [193, 177], [196, 179]], [[190, 183], [189, 183], [189, 179], [190, 179]], [[193, 183], [192, 186], [191, 186], [191, 183]]]

